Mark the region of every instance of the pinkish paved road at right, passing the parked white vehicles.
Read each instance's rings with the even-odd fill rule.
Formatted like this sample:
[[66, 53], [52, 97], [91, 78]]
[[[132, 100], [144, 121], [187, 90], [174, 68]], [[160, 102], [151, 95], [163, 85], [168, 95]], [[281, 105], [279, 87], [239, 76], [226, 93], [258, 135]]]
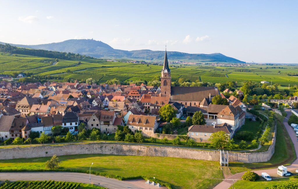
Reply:
[[[288, 110], [288, 109], [286, 110], [286, 112], [287, 112], [287, 117], [285, 117], [285, 119], [283, 120], [283, 124], [285, 125], [285, 128], [287, 129], [288, 134], [289, 134], [291, 140], [293, 141], [296, 154], [298, 154], [297, 136], [296, 136], [295, 132], [293, 131], [293, 128], [291, 126], [289, 126], [289, 124], [288, 124], [288, 118], [291, 116], [292, 113], [291, 113], [291, 110]], [[295, 170], [298, 169], [298, 158], [290, 166], [287, 166], [287, 168], [288, 168], [288, 171], [295, 172]], [[271, 176], [277, 177], [277, 168], [262, 169], [262, 170], [257, 170], [254, 172], [259, 175], [261, 175], [262, 172], [266, 172], [266, 173], [270, 174]], [[232, 186], [233, 182], [236, 182], [237, 180], [241, 180], [241, 177], [243, 174], [244, 174], [244, 172], [234, 174], [234, 175], [226, 178], [224, 181], [222, 181], [218, 185], [216, 185], [213, 189], [228, 189]]]

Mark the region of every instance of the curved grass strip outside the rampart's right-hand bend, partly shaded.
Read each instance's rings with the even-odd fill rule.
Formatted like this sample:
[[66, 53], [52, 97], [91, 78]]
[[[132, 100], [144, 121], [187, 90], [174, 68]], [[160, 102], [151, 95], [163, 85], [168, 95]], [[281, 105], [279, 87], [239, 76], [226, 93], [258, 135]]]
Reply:
[[275, 142], [275, 151], [270, 161], [260, 163], [229, 163], [230, 171], [236, 174], [252, 169], [268, 169], [275, 168], [279, 165], [289, 165], [296, 159], [294, 144], [288, 135], [284, 125], [284, 117], [275, 114], [277, 117], [277, 135]]

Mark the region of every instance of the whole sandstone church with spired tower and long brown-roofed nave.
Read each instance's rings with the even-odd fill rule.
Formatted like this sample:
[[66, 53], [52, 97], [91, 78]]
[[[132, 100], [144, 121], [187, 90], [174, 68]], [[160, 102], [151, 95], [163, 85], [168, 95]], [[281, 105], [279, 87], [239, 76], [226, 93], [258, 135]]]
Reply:
[[212, 98], [220, 95], [217, 87], [173, 87], [171, 86], [171, 70], [167, 60], [167, 50], [164, 54], [160, 96], [169, 97], [171, 102], [178, 102], [185, 107], [208, 107]]

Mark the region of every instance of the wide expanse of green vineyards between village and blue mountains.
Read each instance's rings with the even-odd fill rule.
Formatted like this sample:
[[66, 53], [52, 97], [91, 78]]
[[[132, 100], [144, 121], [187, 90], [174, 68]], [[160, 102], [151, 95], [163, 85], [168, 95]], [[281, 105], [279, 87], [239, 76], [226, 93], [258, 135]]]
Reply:
[[[79, 63], [80, 62], [80, 63]], [[171, 65], [171, 64], [170, 64]], [[172, 66], [172, 65], [171, 65]], [[277, 68], [270, 65], [245, 67], [220, 67], [210, 65], [177, 65], [171, 67], [172, 81], [183, 78], [189, 82], [221, 83], [235, 81], [241, 85], [242, 81], [278, 83], [281, 86], [293, 86], [298, 82], [298, 66], [283, 65]], [[82, 60], [59, 60], [29, 55], [11, 55], [0, 52], [0, 74], [32, 73], [39, 76], [60, 76], [58, 80], [93, 78], [98, 82], [111, 79], [120, 81], [152, 81], [160, 76], [162, 66], [136, 63], [107, 62], [100, 59], [84, 58]], [[289, 75], [288, 75], [289, 74]]]

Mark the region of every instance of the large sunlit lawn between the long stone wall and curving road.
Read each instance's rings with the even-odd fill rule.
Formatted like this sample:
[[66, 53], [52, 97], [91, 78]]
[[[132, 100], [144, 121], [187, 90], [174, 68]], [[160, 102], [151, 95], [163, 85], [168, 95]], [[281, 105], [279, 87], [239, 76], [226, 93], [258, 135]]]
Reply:
[[[0, 160], [1, 170], [46, 170], [45, 162], [51, 157]], [[213, 188], [223, 179], [217, 161], [182, 158], [124, 156], [124, 155], [64, 155], [59, 156], [59, 169], [91, 170], [122, 177], [156, 177], [169, 182], [172, 188]], [[58, 169], [58, 170], [59, 170]]]

